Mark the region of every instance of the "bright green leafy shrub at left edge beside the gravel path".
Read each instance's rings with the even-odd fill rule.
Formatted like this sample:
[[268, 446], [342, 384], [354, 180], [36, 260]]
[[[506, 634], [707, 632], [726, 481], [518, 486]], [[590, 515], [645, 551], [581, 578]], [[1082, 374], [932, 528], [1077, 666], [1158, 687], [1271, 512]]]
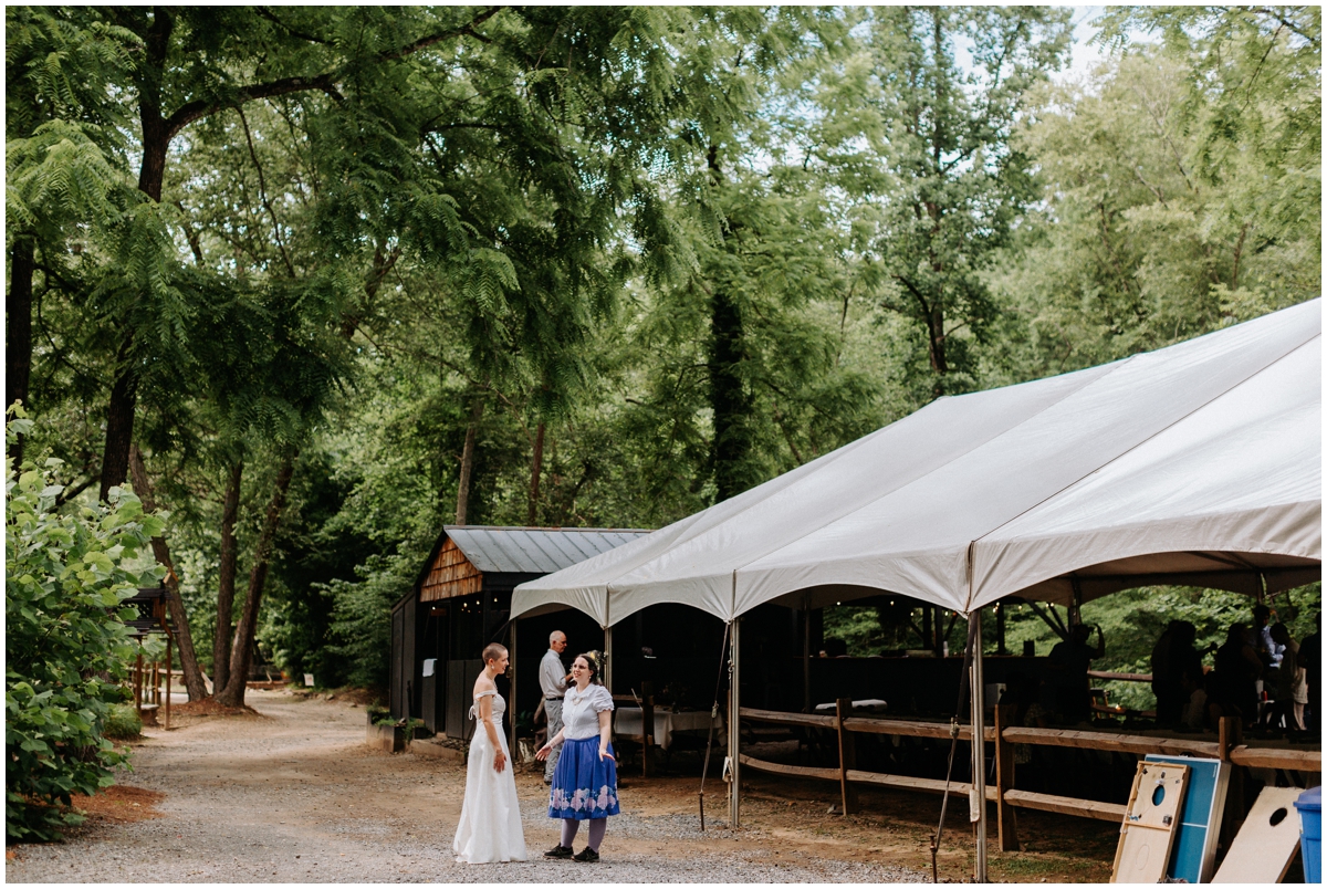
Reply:
[[[17, 411], [16, 411], [17, 413]], [[7, 423], [5, 437], [32, 422]], [[5, 459], [5, 835], [50, 840], [78, 824], [72, 793], [114, 783], [111, 770], [129, 754], [102, 736], [111, 705], [123, 699], [119, 679], [135, 649], [119, 608], [141, 584], [155, 584], [155, 565], [134, 561], [162, 521], [143, 515], [138, 499], [118, 488], [110, 506], [61, 513], [62, 487], [45, 468], [24, 463], [17, 479]]]

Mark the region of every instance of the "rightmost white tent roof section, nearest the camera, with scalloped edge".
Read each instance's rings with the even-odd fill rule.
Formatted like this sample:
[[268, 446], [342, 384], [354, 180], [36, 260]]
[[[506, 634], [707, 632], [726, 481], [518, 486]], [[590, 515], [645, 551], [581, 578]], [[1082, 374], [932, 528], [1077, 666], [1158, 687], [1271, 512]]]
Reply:
[[1148, 571], [1165, 553], [1182, 569], [1198, 552], [1322, 560], [1320, 337], [979, 540], [970, 606], [1153, 553]]

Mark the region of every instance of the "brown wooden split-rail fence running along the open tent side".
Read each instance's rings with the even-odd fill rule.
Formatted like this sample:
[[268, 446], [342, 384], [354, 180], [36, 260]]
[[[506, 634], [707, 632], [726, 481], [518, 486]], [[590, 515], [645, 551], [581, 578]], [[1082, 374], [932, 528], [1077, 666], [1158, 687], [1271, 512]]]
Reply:
[[[843, 812], [847, 815], [856, 805], [853, 784], [893, 787], [898, 789], [945, 792], [946, 783], [934, 778], [910, 778], [905, 775], [884, 775], [856, 768], [855, 735], [894, 735], [902, 738], [958, 738], [971, 740], [971, 726], [966, 723], [940, 723], [909, 719], [872, 719], [853, 717], [852, 701], [840, 698], [835, 715], [778, 713], [742, 707], [742, 719], [779, 726], [802, 726], [824, 728], [836, 732], [839, 742], [839, 767], [816, 768], [808, 766], [784, 766], [754, 756], [739, 755], [739, 762], [750, 768], [775, 775], [815, 778], [837, 782], [843, 799]], [[1014, 824], [1015, 808], [1040, 809], [1060, 815], [1076, 815], [1104, 821], [1123, 821], [1125, 807], [1119, 803], [1101, 803], [1072, 796], [1034, 793], [1014, 788], [1014, 744], [1039, 744], [1044, 747], [1076, 747], [1080, 750], [1103, 750], [1121, 754], [1164, 754], [1169, 756], [1201, 756], [1221, 759], [1234, 766], [1254, 768], [1286, 768], [1307, 772], [1322, 772], [1322, 750], [1285, 750], [1270, 747], [1250, 747], [1241, 743], [1238, 723], [1222, 719], [1217, 740], [1188, 738], [1153, 738], [1148, 735], [1128, 735], [1107, 731], [1079, 731], [1072, 728], [1024, 728], [1010, 726], [1013, 707], [995, 707], [995, 724], [983, 728], [986, 740], [994, 743], [995, 783], [986, 786], [986, 799], [995, 803], [999, 843], [1002, 851], [1018, 849], [1018, 833]], [[967, 796], [971, 786], [965, 782], [949, 782], [949, 791]]]

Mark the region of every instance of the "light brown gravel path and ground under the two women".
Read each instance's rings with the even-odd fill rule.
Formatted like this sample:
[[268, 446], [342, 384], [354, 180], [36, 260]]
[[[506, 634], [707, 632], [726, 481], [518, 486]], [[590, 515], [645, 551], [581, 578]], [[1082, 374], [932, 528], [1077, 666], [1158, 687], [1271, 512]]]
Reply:
[[[758, 828], [632, 803], [594, 865], [537, 857], [556, 844], [547, 788], [518, 774], [533, 861], [463, 865], [451, 856], [464, 767], [364, 743], [365, 711], [338, 701], [249, 691], [259, 717], [192, 718], [135, 744], [121, 783], [166, 793], [161, 817], [98, 821], [68, 843], [11, 847], [8, 882], [920, 882], [920, 870], [792, 849]], [[714, 808], [722, 789], [714, 788]], [[642, 793], [644, 795], [644, 793]], [[707, 807], [709, 809], [709, 807]], [[577, 848], [584, 833], [577, 837]]]

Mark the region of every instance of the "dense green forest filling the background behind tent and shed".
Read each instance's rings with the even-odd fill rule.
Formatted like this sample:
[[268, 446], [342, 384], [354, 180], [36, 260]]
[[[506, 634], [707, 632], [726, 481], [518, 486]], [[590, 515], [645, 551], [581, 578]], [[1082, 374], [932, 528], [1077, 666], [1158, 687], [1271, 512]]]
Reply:
[[[660, 527], [1319, 296], [1320, 9], [1074, 15], [9, 7], [11, 451], [169, 515], [219, 697], [253, 640], [376, 683], [445, 523]], [[1275, 604], [1302, 637], [1319, 601]], [[1145, 669], [1166, 618], [1247, 608], [1084, 617]], [[920, 646], [894, 610], [828, 632]]]

